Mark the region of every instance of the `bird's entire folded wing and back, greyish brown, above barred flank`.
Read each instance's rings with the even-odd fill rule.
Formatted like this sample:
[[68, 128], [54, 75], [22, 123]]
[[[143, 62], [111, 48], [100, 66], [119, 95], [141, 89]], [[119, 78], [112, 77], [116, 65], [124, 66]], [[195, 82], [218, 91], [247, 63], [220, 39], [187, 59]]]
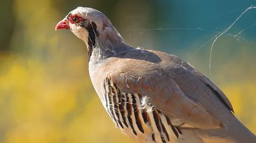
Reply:
[[147, 95], [155, 107], [197, 128], [219, 127], [219, 110], [233, 110], [224, 93], [187, 62], [162, 52], [134, 53], [118, 59], [118, 71], [110, 74], [122, 91]]

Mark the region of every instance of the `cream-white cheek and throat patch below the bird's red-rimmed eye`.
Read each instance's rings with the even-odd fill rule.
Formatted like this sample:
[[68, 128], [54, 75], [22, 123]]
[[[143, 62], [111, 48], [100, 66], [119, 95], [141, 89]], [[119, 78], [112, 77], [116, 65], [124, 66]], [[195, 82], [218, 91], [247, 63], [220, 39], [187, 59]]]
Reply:
[[80, 27], [79, 25], [76, 24], [69, 24], [71, 32], [74, 33], [78, 38], [82, 39], [85, 44], [88, 43], [88, 32], [85, 28]]

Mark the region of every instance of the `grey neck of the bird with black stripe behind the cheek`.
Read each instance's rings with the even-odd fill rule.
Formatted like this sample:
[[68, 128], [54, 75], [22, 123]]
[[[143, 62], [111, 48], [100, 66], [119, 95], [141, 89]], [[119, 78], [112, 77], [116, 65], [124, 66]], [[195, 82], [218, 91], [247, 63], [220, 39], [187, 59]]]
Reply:
[[[98, 24], [99, 25], [99, 24]], [[130, 47], [112, 24], [105, 27], [97, 27], [94, 22], [85, 27], [88, 31], [88, 55], [89, 61], [97, 64], [112, 56], [118, 56]]]

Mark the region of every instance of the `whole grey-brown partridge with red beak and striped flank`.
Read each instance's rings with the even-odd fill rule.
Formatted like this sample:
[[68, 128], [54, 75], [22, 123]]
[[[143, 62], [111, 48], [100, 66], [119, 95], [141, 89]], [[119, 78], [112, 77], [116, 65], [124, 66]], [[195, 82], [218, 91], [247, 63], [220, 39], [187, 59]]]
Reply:
[[188, 62], [133, 48], [99, 10], [77, 7], [55, 30], [85, 42], [88, 70], [115, 126], [137, 142], [256, 142], [227, 96]]

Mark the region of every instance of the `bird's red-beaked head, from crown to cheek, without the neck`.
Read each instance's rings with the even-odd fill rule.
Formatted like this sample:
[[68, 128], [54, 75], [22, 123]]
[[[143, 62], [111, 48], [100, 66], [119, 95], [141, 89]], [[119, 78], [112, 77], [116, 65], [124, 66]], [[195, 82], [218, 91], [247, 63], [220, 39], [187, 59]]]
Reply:
[[110, 25], [111, 22], [98, 10], [77, 7], [56, 25], [55, 30], [69, 29], [86, 44], [95, 44], [95, 38], [102, 32], [102, 28]]

